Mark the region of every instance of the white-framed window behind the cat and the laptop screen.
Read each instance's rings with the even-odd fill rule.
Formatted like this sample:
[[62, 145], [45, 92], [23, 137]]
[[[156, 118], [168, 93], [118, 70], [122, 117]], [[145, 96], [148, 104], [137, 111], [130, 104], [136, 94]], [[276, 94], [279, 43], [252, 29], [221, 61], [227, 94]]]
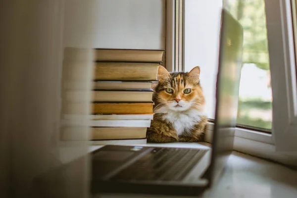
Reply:
[[[171, 42], [168, 39], [170, 31], [166, 29], [166, 51], [170, 45], [183, 50], [178, 52], [178, 63], [174, 60], [176, 57], [171, 56], [166, 56], [166, 61], [171, 58], [172, 63], [175, 63], [172, 64], [172, 70], [180, 70], [181, 62], [184, 71], [200, 66], [208, 118], [214, 118], [220, 14], [222, 6], [225, 6], [244, 28], [244, 56], [234, 149], [297, 165], [296, 0], [174, 2], [179, 7], [179, 17], [178, 21], [174, 17], [175, 21], [171, 23], [171, 40], [182, 36], [183, 43], [180, 43], [180, 38], [176, 40], [178, 44]], [[184, 22], [182, 26], [181, 20]], [[179, 28], [182, 28], [178, 34], [174, 28], [177, 22]], [[171, 51], [172, 54], [176, 53]]]

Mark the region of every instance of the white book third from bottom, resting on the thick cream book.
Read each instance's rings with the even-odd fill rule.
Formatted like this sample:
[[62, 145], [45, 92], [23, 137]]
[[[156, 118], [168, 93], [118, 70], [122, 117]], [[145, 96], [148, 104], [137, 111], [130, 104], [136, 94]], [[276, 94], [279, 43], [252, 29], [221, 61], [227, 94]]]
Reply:
[[[90, 127], [150, 127], [150, 120], [88, 120]], [[77, 120], [63, 120], [63, 126], [81, 125]]]

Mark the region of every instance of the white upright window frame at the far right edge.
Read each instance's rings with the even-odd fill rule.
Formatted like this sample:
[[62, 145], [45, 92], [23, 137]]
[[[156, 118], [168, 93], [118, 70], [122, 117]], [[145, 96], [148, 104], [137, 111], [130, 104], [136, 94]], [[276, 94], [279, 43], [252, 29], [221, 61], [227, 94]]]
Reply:
[[272, 136], [276, 151], [297, 153], [297, 80], [291, 0], [265, 0], [265, 11], [273, 96]]

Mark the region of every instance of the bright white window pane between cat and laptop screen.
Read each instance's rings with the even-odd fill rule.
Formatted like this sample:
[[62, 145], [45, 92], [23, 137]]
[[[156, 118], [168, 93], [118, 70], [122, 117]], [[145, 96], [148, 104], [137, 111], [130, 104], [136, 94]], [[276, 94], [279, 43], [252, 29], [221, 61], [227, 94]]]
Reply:
[[214, 119], [222, 0], [185, 0], [185, 71], [200, 66], [205, 113]]

